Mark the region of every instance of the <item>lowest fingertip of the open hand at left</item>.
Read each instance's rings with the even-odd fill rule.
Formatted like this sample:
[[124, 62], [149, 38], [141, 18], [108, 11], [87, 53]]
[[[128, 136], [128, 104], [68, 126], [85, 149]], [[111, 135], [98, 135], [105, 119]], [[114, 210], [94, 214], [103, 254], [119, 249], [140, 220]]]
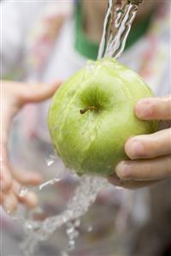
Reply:
[[17, 205], [18, 200], [16, 199], [15, 194], [10, 190], [9, 193], [4, 195], [3, 208], [8, 214], [11, 214], [16, 211]]

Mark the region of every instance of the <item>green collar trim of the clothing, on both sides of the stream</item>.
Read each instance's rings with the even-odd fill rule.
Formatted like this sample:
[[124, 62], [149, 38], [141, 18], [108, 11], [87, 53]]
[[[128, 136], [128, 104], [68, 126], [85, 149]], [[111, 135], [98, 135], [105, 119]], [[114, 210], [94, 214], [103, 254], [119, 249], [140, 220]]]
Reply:
[[[75, 5], [75, 41], [74, 48], [76, 51], [80, 52], [80, 54], [84, 57], [87, 57], [91, 60], [97, 59], [98, 52], [98, 43], [92, 42], [87, 39], [86, 35], [82, 30], [82, 12], [81, 12], [81, 3], [77, 3]], [[148, 30], [150, 25], [151, 16], [149, 15], [144, 21], [139, 22], [137, 26], [132, 27], [131, 32], [127, 38], [127, 44], [125, 47], [125, 51], [135, 44]]]

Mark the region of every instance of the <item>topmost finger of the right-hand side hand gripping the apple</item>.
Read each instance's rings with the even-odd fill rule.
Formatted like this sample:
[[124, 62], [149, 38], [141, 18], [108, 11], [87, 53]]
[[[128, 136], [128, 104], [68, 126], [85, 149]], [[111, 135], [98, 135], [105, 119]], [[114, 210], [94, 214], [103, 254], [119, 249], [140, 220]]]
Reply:
[[170, 120], [171, 96], [141, 99], [135, 106], [135, 114], [143, 120]]

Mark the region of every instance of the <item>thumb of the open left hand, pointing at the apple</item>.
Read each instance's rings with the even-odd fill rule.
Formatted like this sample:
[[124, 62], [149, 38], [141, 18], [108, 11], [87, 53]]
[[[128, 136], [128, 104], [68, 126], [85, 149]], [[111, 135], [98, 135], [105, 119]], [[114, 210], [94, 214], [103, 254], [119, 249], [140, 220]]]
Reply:
[[22, 91], [21, 91], [22, 104], [36, 103], [52, 97], [61, 84], [62, 84], [61, 81], [57, 81], [50, 85], [36, 84], [36, 85], [30, 85], [30, 86], [22, 86]]

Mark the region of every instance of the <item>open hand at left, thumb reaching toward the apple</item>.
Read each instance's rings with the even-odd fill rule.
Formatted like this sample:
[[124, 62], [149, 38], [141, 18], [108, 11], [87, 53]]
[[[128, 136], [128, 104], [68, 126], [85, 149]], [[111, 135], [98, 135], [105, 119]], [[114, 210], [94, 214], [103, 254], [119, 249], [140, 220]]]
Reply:
[[27, 193], [26, 197], [21, 198], [19, 191], [23, 185], [37, 185], [41, 182], [38, 174], [14, 170], [9, 164], [10, 122], [22, 106], [50, 98], [58, 86], [59, 82], [47, 86], [1, 81], [0, 205], [3, 205], [6, 211], [15, 211], [19, 201], [30, 207], [36, 205], [36, 198], [32, 193]]

